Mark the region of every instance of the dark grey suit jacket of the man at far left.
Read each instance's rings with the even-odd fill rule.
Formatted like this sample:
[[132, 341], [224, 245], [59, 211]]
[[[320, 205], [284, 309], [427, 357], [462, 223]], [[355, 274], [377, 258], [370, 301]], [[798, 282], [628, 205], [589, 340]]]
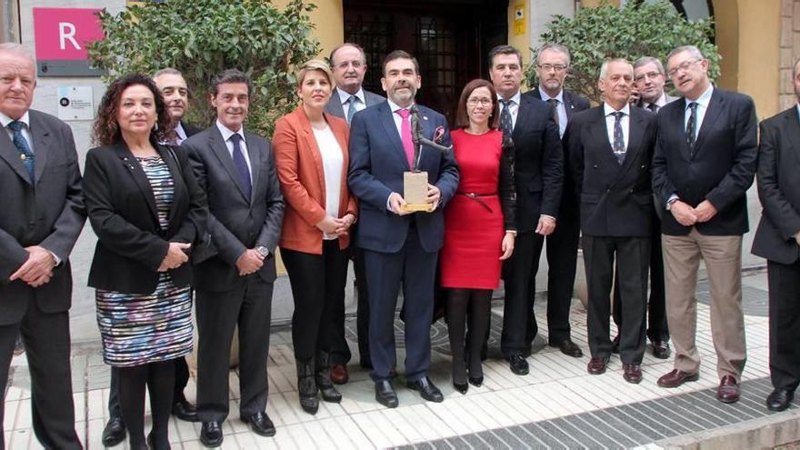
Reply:
[[[72, 302], [69, 254], [84, 226], [84, 195], [75, 139], [52, 115], [29, 110], [35, 154], [35, 185], [5, 130], [0, 133], [0, 325], [19, 323], [30, 299], [45, 313], [67, 311]], [[50, 282], [33, 288], [8, 278], [28, 258], [25, 247], [41, 245], [61, 260]]]

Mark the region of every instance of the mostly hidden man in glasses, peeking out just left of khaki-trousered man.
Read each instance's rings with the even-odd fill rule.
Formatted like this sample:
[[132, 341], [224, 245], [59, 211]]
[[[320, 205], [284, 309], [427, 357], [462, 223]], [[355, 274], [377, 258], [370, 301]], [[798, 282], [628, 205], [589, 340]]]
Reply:
[[[658, 113], [664, 105], [674, 102], [677, 97], [666, 94], [664, 85], [666, 73], [664, 65], [658, 58], [642, 56], [634, 63], [634, 95], [631, 102], [636, 106]], [[638, 98], [635, 98], [635, 95]], [[670, 355], [669, 326], [666, 323], [666, 295], [664, 291], [664, 254], [661, 251], [661, 219], [655, 215], [653, 235], [650, 247], [650, 297], [647, 301], [647, 337], [653, 347], [653, 355], [666, 359]], [[617, 272], [618, 274], [618, 272]], [[617, 275], [618, 276], [618, 275]], [[618, 283], [617, 283], [618, 285]], [[614, 290], [614, 323], [617, 328], [622, 325], [622, 312], [617, 301], [618, 293]], [[619, 353], [619, 335], [614, 339], [614, 353]]]

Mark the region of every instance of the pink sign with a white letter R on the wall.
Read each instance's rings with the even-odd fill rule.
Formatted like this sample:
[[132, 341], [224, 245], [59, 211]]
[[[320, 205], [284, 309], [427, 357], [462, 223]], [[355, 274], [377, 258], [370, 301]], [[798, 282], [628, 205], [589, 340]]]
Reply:
[[34, 8], [36, 59], [85, 61], [86, 45], [103, 39], [100, 9]]

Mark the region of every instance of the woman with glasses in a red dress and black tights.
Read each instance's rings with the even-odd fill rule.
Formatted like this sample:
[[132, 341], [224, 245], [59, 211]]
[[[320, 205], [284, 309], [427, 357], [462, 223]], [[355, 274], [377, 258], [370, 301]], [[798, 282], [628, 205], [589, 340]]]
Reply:
[[[500, 285], [500, 266], [514, 251], [516, 191], [514, 148], [497, 130], [495, 88], [486, 80], [469, 82], [458, 101], [453, 138], [461, 178], [445, 209], [441, 283], [448, 288], [447, 323], [453, 353], [453, 386], [462, 394], [469, 383], [484, 381], [481, 348], [489, 325], [492, 290]], [[469, 354], [465, 323], [469, 317]], [[466, 356], [466, 358], [465, 358]]]

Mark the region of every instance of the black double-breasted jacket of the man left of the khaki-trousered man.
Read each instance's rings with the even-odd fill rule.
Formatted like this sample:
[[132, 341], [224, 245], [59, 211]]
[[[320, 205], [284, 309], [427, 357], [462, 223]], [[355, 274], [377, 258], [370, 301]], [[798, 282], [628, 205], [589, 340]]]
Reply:
[[630, 112], [622, 165], [608, 142], [603, 105], [576, 114], [567, 125], [565, 140], [580, 196], [584, 235], [652, 234], [650, 163], [655, 147], [655, 115], [634, 107]]

